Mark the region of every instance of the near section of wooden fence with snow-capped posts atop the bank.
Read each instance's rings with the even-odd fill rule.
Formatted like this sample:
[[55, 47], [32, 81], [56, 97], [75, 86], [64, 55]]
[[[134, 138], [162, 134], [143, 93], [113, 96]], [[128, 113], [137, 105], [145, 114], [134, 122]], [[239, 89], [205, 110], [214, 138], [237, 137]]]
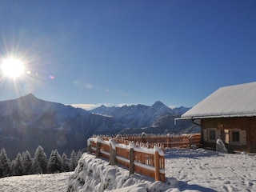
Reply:
[[109, 159], [110, 165], [126, 166], [130, 174], [144, 174], [156, 181], [165, 182], [165, 155], [162, 148], [145, 148], [136, 146], [134, 142], [129, 145], [120, 144], [114, 139], [89, 138], [88, 152]]

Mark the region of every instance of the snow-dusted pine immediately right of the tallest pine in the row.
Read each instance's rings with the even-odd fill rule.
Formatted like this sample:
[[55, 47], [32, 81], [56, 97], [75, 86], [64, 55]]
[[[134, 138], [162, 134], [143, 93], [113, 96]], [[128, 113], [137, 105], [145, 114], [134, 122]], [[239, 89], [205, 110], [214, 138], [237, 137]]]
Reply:
[[62, 158], [58, 154], [58, 150], [52, 150], [48, 162], [48, 170], [50, 173], [57, 173], [62, 171]]

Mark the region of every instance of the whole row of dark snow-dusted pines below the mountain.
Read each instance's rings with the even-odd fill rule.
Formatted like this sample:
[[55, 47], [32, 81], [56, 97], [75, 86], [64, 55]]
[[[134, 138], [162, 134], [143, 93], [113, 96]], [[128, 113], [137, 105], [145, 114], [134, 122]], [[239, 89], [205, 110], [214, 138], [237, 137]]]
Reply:
[[0, 178], [6, 176], [20, 176], [25, 174], [47, 174], [73, 171], [78, 165], [78, 160], [82, 156], [79, 150], [77, 153], [74, 150], [70, 154], [70, 158], [65, 153], [60, 155], [58, 150], [52, 150], [50, 158], [47, 159], [46, 153], [42, 146], [34, 152], [34, 158], [30, 152], [22, 152], [17, 154], [17, 157], [10, 161], [6, 150], [2, 148], [0, 151]]

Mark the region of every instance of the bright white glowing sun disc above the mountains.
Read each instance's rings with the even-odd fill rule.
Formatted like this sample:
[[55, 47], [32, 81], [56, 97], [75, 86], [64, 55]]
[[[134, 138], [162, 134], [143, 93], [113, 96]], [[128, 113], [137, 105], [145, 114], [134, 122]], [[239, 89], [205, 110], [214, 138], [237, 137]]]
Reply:
[[19, 78], [24, 74], [24, 62], [18, 58], [5, 58], [1, 63], [2, 74], [8, 78]]

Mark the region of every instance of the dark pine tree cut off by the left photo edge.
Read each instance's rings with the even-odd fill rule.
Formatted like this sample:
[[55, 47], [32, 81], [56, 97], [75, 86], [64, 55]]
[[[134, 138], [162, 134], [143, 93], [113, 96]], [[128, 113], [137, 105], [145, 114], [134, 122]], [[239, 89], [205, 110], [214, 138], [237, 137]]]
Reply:
[[2, 148], [0, 151], [0, 178], [10, 174], [10, 159], [7, 157], [6, 150]]

